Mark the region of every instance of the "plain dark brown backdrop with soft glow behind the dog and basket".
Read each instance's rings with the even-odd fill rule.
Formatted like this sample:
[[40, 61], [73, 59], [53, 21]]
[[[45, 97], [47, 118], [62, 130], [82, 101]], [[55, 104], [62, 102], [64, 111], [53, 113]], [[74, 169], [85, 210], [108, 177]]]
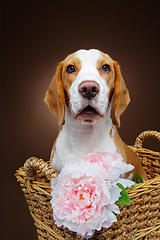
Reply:
[[[121, 118], [132, 145], [144, 130], [160, 130], [158, 1], [1, 1], [2, 239], [36, 239], [36, 228], [14, 173], [30, 156], [49, 159], [57, 120], [43, 102], [59, 61], [84, 48], [121, 65], [131, 103]], [[145, 147], [159, 150], [146, 140]], [[1, 232], [2, 233], [2, 232]]]

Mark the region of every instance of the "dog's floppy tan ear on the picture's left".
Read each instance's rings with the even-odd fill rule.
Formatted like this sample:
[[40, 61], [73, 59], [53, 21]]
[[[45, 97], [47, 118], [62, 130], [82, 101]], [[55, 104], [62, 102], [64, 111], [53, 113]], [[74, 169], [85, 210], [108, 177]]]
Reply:
[[55, 76], [46, 91], [44, 101], [47, 103], [50, 111], [58, 118], [58, 125], [64, 124], [65, 116], [65, 95], [62, 82], [63, 62], [57, 67]]

